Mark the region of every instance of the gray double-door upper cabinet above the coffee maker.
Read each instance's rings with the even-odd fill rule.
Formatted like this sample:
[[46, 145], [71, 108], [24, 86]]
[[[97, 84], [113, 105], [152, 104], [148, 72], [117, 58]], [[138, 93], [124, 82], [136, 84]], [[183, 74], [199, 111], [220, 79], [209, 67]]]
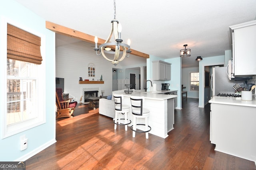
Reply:
[[171, 64], [164, 61], [152, 61], [153, 80], [171, 80]]

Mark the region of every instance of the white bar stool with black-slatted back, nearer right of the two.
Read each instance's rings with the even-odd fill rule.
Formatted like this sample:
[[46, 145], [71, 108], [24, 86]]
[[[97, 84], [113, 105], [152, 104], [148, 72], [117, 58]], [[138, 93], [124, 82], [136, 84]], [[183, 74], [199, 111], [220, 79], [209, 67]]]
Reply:
[[[150, 110], [147, 108], [143, 108], [142, 104], [145, 98], [142, 96], [130, 96], [131, 105], [132, 105], [132, 114], [133, 114], [133, 125], [132, 129], [132, 137], [135, 137], [135, 133], [146, 133], [146, 139], [148, 139], [148, 132], [151, 130], [151, 127], [148, 125], [148, 117]], [[137, 124], [136, 118], [145, 118], [145, 124]], [[137, 125], [144, 125], [145, 130], [137, 130]], [[148, 129], [149, 128], [149, 129]]]

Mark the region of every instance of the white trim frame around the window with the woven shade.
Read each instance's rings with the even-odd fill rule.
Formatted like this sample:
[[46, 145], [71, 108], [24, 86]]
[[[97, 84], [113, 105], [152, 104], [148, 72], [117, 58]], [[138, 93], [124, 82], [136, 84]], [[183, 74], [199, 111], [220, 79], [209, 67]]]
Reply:
[[[42, 125], [46, 123], [46, 66], [45, 66], [45, 42], [46, 38], [45, 35], [42, 33], [38, 33], [37, 31], [34, 31], [33, 29], [26, 27], [23, 25], [23, 23], [18, 23], [17, 21], [12, 21], [8, 18], [0, 18], [0, 55], [2, 56], [0, 59], [0, 77], [2, 81], [2, 87], [0, 88], [1, 94], [4, 94], [2, 98], [0, 98], [0, 102], [2, 103], [2, 106], [0, 108], [0, 124], [1, 124], [1, 138], [4, 139], [6, 137], [10, 137], [12, 135], [15, 135], [17, 133], [20, 133], [22, 131], [26, 131], [28, 129], [31, 129], [33, 127], [36, 127], [38, 125]], [[37, 108], [37, 117], [33, 119], [28, 119], [26, 121], [22, 121], [19, 123], [15, 123], [12, 125], [7, 125], [6, 119], [7, 119], [7, 23], [10, 23], [11, 25], [14, 25], [20, 29], [23, 29], [25, 31], [28, 31], [34, 35], [37, 35], [38, 37], [41, 37], [41, 55], [43, 58], [42, 64], [38, 65], [38, 76], [37, 76], [37, 94], [36, 100], [38, 101], [38, 108]], [[6, 57], [4, 57], [6, 56]]]

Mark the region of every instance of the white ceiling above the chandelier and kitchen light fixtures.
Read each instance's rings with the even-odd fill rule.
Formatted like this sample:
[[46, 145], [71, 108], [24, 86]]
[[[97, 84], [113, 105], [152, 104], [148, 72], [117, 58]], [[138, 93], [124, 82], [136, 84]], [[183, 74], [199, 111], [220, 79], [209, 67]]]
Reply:
[[[16, 1], [46, 21], [102, 39], [114, 19], [113, 0]], [[191, 57], [182, 58], [182, 68], [196, 67], [197, 56], [224, 55], [231, 49], [229, 26], [256, 20], [256, 0], [116, 0], [116, 19], [132, 49], [168, 59], [179, 57], [187, 44]]]

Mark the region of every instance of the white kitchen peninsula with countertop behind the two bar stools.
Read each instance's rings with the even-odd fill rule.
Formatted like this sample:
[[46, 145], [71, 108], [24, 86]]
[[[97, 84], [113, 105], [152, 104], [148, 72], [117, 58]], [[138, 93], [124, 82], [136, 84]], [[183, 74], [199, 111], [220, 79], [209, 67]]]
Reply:
[[[172, 90], [161, 90], [156, 92], [140, 92], [133, 91], [132, 94], [126, 94], [122, 92], [113, 92], [113, 94], [123, 94], [123, 104], [131, 106], [130, 96], [144, 96], [145, 102], [143, 107], [150, 110], [150, 116], [148, 118], [148, 125], [151, 127], [149, 133], [166, 138], [168, 132], [174, 129], [174, 98], [177, 95], [166, 95], [165, 92], [171, 92]], [[177, 90], [174, 90], [177, 91]], [[132, 121], [132, 112], [130, 111], [130, 120]], [[144, 121], [138, 120], [138, 123]], [[129, 125], [131, 126], [132, 123]]]

